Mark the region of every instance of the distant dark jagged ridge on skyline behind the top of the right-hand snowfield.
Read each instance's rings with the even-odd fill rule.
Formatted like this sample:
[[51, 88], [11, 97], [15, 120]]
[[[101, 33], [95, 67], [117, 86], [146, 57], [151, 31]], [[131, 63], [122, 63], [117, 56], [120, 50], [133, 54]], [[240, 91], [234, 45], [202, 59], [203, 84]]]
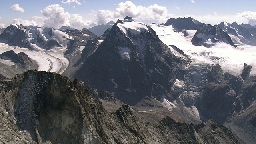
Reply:
[[174, 28], [178, 30], [198, 30], [198, 28], [202, 25], [201, 22], [188, 17], [188, 18], [170, 18], [164, 24], [165, 26], [172, 25]]

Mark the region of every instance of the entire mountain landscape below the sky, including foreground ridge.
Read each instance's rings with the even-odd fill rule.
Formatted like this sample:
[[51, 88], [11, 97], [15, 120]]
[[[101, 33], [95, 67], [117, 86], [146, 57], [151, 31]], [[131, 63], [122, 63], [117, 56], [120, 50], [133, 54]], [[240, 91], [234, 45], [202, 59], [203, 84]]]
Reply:
[[0, 35], [1, 142], [253, 144], [254, 29], [12, 24]]

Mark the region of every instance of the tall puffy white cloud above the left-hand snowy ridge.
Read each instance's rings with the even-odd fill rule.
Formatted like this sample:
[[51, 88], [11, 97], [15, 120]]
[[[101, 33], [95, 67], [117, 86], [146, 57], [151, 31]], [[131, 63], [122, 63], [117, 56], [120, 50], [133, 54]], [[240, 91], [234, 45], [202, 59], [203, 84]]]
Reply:
[[68, 12], [64, 12], [59, 4], [52, 4], [47, 6], [41, 13], [46, 17], [44, 20], [44, 26], [60, 28], [61, 26], [70, 26], [71, 15]]

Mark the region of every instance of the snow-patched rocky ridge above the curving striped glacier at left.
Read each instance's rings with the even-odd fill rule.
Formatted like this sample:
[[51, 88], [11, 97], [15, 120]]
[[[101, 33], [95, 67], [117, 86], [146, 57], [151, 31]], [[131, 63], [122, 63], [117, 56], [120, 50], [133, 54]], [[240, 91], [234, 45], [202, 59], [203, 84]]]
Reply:
[[65, 32], [62, 32], [54, 28], [11, 24], [0, 34], [0, 41], [30, 50], [35, 49], [34, 45], [47, 50], [54, 46], [67, 46], [66, 54], [70, 54], [78, 46], [85, 46], [88, 40], [96, 37], [86, 28], [82, 30], [66, 29]]

